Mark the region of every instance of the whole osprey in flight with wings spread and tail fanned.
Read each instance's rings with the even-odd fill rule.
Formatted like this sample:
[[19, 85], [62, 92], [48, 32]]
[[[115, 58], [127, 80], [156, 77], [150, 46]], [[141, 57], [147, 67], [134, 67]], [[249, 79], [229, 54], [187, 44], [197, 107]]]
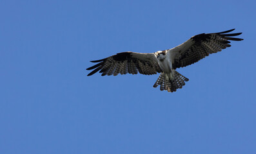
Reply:
[[185, 85], [184, 81], [188, 81], [188, 78], [179, 74], [176, 69], [191, 65], [211, 53], [230, 47], [229, 40], [243, 40], [234, 38], [241, 33], [229, 33], [233, 30], [235, 29], [219, 33], [201, 33], [177, 47], [155, 53], [123, 52], [101, 60], [94, 60], [91, 62], [98, 64], [86, 69], [94, 69], [87, 76], [97, 71], [102, 73], [101, 76], [137, 74], [138, 71], [146, 75], [161, 73], [153, 87], [160, 85], [160, 90], [174, 92]]

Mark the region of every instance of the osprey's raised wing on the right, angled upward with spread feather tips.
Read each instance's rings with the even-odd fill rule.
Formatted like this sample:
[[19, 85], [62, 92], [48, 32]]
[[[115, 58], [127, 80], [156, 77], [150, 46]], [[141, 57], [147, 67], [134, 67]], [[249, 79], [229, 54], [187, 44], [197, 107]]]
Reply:
[[[185, 67], [198, 62], [202, 58], [230, 47], [229, 40], [243, 40], [233, 38], [241, 33], [229, 33], [232, 30], [219, 33], [202, 33], [195, 35], [180, 46], [170, 49], [173, 69]], [[229, 33], [229, 34], [227, 34]]]

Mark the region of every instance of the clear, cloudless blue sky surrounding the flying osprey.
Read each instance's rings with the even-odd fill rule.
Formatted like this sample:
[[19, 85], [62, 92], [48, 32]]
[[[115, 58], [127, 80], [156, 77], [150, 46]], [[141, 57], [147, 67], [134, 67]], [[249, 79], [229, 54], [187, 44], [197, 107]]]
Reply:
[[[0, 153], [256, 153], [255, 1], [1, 1]], [[90, 60], [170, 49], [236, 28], [241, 42], [152, 76]]]

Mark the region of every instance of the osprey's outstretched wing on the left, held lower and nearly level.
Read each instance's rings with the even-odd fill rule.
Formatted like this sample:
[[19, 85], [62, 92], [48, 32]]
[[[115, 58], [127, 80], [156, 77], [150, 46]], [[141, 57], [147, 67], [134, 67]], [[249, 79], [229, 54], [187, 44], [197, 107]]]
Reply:
[[154, 53], [133, 53], [133, 52], [124, 52], [117, 53], [117, 55], [109, 56], [102, 60], [91, 61], [98, 63], [92, 67], [89, 67], [87, 70], [92, 70], [87, 76], [91, 76], [94, 73], [102, 73], [104, 75], [114, 75], [117, 74], [157, 74], [161, 73], [162, 70], [158, 65], [157, 57]]

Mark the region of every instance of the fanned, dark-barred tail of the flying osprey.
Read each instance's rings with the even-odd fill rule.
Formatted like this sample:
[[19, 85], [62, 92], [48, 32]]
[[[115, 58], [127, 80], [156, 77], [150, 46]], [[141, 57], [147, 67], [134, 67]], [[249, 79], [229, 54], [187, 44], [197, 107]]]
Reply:
[[176, 89], [181, 89], [185, 85], [184, 81], [188, 81], [188, 78], [182, 76], [177, 71], [175, 71], [175, 76], [172, 80], [168, 78], [165, 73], [161, 73], [153, 87], [160, 85], [160, 90], [167, 90], [168, 92], [175, 92]]

